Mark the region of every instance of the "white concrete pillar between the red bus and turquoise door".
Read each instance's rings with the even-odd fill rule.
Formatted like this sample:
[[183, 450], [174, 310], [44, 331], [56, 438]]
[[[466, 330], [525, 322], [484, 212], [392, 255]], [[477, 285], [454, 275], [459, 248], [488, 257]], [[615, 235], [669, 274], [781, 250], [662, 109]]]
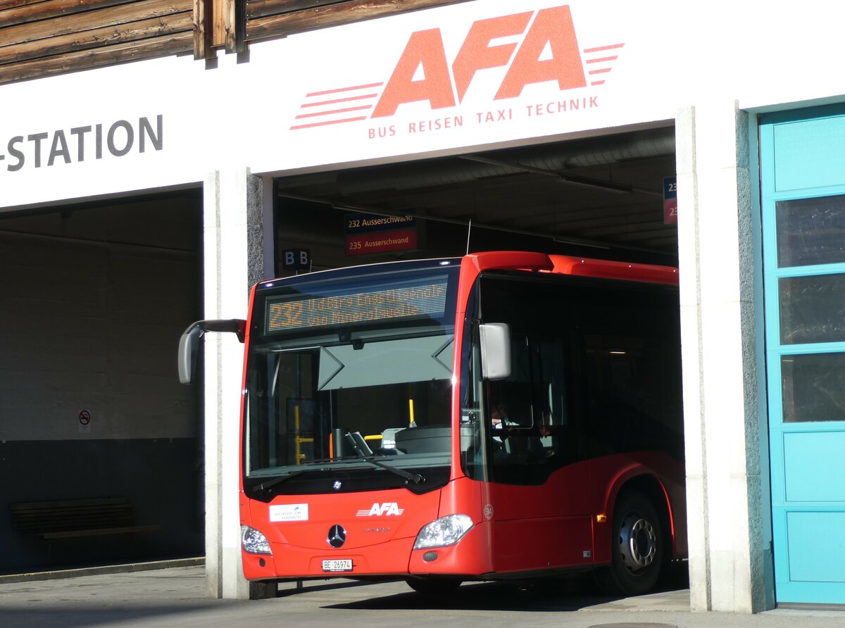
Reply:
[[771, 608], [771, 582], [748, 115], [690, 107], [676, 135], [690, 604], [755, 613]]

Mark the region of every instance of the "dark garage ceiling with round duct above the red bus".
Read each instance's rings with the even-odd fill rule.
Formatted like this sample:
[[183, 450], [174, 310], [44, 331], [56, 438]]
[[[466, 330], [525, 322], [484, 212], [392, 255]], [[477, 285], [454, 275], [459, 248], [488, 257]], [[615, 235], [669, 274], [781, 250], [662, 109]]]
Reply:
[[[663, 222], [663, 178], [675, 174], [674, 129], [493, 150], [277, 181], [282, 205], [425, 216], [538, 236], [594, 257], [676, 264]], [[429, 223], [430, 224], [430, 223]], [[475, 233], [475, 231], [473, 231]]]

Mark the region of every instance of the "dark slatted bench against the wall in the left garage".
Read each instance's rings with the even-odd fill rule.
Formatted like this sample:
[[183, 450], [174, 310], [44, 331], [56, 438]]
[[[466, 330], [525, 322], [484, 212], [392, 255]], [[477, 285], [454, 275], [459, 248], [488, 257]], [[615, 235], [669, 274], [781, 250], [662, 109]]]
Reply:
[[132, 503], [125, 497], [21, 502], [9, 504], [9, 510], [15, 530], [46, 540], [161, 530], [158, 524], [137, 525]]

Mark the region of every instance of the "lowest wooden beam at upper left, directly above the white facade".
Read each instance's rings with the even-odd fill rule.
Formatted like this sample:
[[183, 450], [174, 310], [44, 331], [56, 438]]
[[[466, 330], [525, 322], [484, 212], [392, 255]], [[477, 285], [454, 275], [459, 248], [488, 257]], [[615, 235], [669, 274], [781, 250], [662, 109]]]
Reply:
[[131, 41], [116, 46], [15, 63], [0, 67], [0, 84], [102, 68], [141, 59], [171, 57], [183, 52], [191, 52], [193, 41], [193, 33], [187, 31], [150, 40]]

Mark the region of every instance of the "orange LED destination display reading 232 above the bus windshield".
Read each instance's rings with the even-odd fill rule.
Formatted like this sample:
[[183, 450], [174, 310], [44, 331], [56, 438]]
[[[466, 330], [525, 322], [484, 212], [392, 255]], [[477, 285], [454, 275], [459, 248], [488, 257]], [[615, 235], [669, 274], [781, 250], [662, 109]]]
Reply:
[[447, 278], [437, 277], [348, 294], [268, 298], [265, 333], [423, 317], [441, 319], [446, 287]]

